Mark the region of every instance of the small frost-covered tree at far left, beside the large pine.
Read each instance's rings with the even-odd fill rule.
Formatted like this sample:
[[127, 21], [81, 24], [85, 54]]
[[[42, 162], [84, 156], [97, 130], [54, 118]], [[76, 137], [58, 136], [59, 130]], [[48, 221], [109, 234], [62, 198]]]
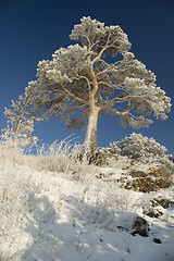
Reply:
[[29, 114], [30, 101], [34, 97], [34, 89], [36, 88], [36, 82], [28, 83], [28, 87], [25, 88], [25, 95], [20, 96], [17, 101], [12, 100], [11, 108], [4, 108], [4, 115], [8, 119], [8, 128], [3, 129], [2, 139], [8, 141], [8, 146], [14, 148], [14, 146], [22, 150], [25, 150], [27, 146], [35, 145], [37, 137], [33, 136], [34, 122], [37, 122], [36, 117]]

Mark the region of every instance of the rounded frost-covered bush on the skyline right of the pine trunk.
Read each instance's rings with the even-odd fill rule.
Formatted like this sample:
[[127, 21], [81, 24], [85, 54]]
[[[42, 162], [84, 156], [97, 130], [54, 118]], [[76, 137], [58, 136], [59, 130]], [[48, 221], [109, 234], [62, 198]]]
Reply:
[[148, 138], [141, 134], [133, 133], [121, 141], [110, 144], [110, 151], [115, 154], [126, 156], [141, 163], [160, 163], [172, 169], [173, 164], [165, 154], [167, 149], [156, 141], [154, 138]]

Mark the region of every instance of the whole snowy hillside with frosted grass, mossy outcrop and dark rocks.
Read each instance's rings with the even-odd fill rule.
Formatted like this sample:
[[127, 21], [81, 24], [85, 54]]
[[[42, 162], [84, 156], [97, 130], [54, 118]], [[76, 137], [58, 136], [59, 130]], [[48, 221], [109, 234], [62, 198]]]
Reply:
[[69, 146], [0, 145], [0, 260], [173, 261], [172, 171], [113, 153], [121, 144], [98, 151], [105, 164]]

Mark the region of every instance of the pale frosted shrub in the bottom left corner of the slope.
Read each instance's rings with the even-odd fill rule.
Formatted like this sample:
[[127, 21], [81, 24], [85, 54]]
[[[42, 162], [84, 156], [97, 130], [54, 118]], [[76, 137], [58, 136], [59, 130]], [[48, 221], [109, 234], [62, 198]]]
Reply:
[[[36, 204], [36, 187], [29, 178], [17, 177], [8, 164], [0, 173], [0, 257], [22, 260], [25, 227]], [[25, 237], [26, 240], [29, 238]], [[20, 250], [21, 249], [21, 250]], [[15, 256], [15, 258], [14, 258]]]

